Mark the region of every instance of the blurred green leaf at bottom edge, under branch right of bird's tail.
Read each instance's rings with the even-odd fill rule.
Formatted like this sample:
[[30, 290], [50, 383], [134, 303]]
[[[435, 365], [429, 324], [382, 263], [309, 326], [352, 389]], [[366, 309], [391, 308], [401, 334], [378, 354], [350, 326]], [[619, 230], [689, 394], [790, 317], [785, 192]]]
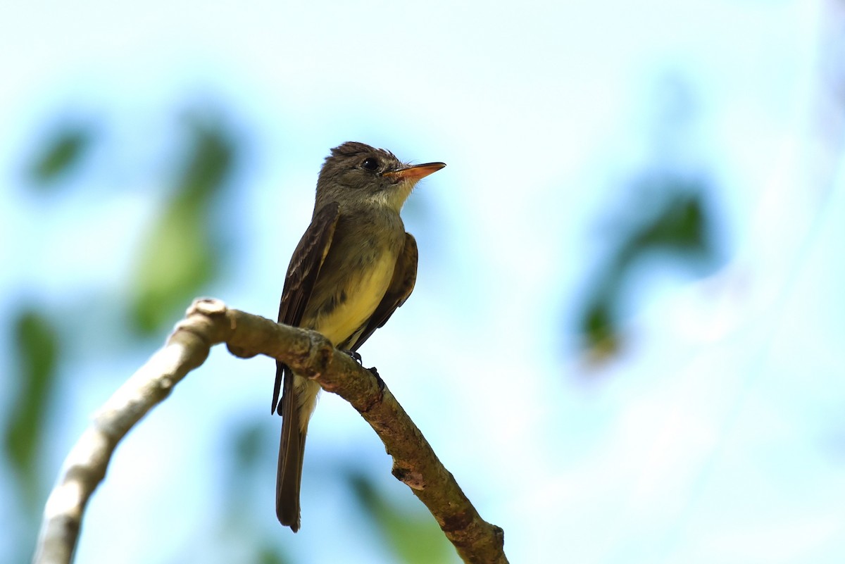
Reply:
[[366, 475], [347, 475], [352, 491], [372, 519], [395, 561], [432, 564], [456, 560], [455, 548], [428, 511], [400, 507], [379, 492]]

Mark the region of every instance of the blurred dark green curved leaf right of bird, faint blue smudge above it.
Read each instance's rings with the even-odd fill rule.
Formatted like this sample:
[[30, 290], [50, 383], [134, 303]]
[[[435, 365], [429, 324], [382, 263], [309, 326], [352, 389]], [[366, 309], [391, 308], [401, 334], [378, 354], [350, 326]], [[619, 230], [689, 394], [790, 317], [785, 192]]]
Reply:
[[[620, 310], [630, 290], [631, 274], [643, 258], [659, 258], [669, 268], [693, 275], [710, 274], [721, 263], [713, 234], [717, 209], [707, 197], [710, 182], [695, 162], [695, 88], [670, 71], [655, 84], [651, 106], [653, 160], [630, 182], [631, 195], [604, 223], [610, 251], [586, 282], [586, 299], [576, 320], [582, 344], [592, 359], [615, 355], [624, 345]], [[616, 237], [613, 241], [612, 238]], [[652, 263], [649, 263], [650, 265]]]

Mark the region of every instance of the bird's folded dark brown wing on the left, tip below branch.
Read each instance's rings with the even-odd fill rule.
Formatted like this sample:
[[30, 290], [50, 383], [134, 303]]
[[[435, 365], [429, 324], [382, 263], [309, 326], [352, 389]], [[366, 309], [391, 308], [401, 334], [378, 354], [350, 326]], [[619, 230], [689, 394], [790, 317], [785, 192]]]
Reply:
[[[314, 214], [311, 225], [308, 225], [303, 238], [299, 240], [297, 250], [291, 257], [291, 264], [287, 267], [285, 289], [282, 290], [279, 304], [279, 323], [297, 327], [302, 322], [305, 306], [308, 305], [325, 257], [329, 254], [335, 226], [340, 217], [340, 207], [337, 203], [323, 206]], [[279, 407], [279, 393], [285, 368], [281, 362], [276, 362], [273, 405], [270, 408], [272, 412]], [[287, 380], [291, 382], [292, 387], [293, 378]]]

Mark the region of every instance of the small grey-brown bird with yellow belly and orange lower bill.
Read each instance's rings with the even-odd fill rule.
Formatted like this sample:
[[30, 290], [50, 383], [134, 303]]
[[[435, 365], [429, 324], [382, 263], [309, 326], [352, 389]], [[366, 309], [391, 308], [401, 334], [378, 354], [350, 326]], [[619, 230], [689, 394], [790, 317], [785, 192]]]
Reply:
[[[402, 206], [420, 179], [444, 166], [405, 164], [388, 150], [353, 141], [331, 149], [319, 171], [311, 223], [287, 268], [279, 323], [318, 331], [360, 361], [358, 348], [405, 303], [417, 279], [417, 241], [405, 230]], [[319, 390], [276, 362], [271, 409], [282, 425], [275, 511], [294, 533]]]

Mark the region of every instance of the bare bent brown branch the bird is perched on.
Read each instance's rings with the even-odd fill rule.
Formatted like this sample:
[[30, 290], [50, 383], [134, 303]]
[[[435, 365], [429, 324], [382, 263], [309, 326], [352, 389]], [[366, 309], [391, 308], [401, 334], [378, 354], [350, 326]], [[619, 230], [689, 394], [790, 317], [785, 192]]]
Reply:
[[219, 343], [242, 358], [268, 355], [283, 361], [346, 399], [384, 442], [393, 458], [393, 475], [428, 507], [461, 559], [507, 562], [502, 529], [478, 515], [384, 382], [316, 332], [229, 309], [211, 299], [194, 301], [164, 348], [106, 401], [71, 449], [47, 499], [33, 562], [73, 561], [85, 507], [105, 478], [117, 443]]

